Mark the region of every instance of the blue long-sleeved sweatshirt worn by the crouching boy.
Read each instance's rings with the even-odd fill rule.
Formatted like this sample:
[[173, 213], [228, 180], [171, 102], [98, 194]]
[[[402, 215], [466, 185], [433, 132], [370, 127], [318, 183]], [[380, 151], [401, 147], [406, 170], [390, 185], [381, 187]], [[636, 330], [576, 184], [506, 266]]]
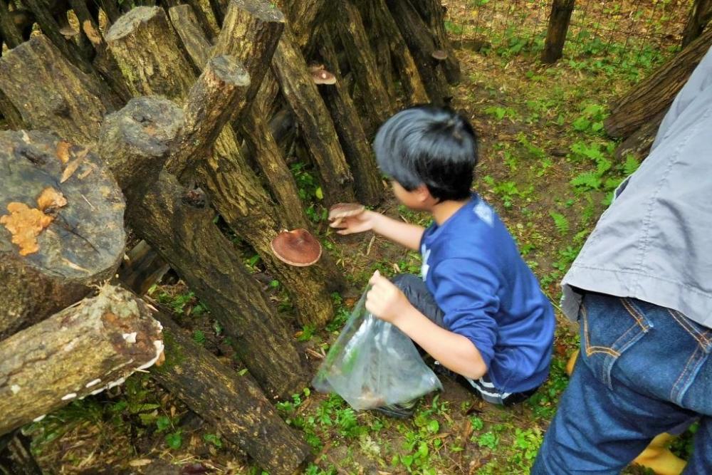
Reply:
[[425, 230], [422, 276], [451, 332], [479, 350], [495, 387], [523, 392], [549, 373], [555, 318], [494, 210], [473, 194]]

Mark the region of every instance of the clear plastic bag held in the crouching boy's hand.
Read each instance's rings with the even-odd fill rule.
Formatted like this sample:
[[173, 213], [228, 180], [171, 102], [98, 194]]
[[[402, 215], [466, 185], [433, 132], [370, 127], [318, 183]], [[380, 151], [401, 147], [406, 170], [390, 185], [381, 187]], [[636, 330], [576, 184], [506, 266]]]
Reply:
[[354, 409], [374, 409], [442, 390], [412, 340], [372, 315], [365, 301], [366, 293], [314, 377], [314, 389], [336, 392]]

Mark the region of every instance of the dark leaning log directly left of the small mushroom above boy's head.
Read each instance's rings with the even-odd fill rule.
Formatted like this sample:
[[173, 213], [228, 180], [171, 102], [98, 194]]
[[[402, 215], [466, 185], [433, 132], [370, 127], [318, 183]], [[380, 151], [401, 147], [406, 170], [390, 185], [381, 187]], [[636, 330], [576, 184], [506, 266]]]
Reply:
[[451, 98], [449, 88], [443, 71], [436, 67], [439, 60], [432, 56], [439, 49], [436, 38], [409, 0], [386, 0], [386, 4], [393, 17], [398, 19], [398, 27], [413, 55], [431, 102], [438, 105], [446, 103]]

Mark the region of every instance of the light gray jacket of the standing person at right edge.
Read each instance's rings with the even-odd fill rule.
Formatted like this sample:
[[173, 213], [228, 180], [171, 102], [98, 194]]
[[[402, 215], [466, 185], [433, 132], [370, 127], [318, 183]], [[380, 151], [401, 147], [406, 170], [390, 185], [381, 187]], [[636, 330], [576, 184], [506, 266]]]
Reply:
[[712, 328], [712, 48], [615, 194], [564, 276], [564, 313], [577, 319], [581, 288], [679, 310]]

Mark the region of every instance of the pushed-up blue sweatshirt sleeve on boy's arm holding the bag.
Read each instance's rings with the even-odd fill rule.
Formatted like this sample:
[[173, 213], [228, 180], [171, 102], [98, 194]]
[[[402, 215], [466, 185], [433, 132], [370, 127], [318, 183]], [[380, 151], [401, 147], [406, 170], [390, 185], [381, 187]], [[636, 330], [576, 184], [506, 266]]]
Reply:
[[475, 259], [444, 259], [435, 268], [435, 301], [445, 313], [444, 322], [453, 333], [468, 338], [487, 366], [497, 343], [500, 301], [496, 269], [491, 263]]

